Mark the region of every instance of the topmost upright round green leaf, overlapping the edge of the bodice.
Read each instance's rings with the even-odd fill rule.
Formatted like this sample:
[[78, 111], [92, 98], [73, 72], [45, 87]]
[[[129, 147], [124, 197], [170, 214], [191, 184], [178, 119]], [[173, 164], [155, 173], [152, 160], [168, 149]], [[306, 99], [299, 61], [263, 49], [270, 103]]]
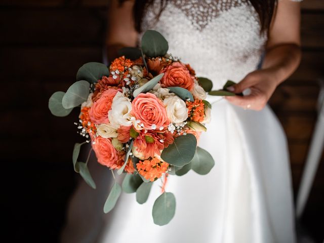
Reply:
[[167, 54], [169, 49], [165, 37], [155, 30], [146, 30], [141, 43], [143, 53], [148, 57], [162, 57]]

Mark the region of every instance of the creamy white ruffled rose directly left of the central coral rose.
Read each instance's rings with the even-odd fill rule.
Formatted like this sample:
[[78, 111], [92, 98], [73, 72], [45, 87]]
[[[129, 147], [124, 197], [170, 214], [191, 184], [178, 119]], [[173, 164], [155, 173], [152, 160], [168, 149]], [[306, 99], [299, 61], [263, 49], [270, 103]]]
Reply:
[[117, 92], [112, 99], [111, 109], [108, 111], [109, 122], [112, 126], [119, 128], [120, 126], [131, 126], [131, 100]]

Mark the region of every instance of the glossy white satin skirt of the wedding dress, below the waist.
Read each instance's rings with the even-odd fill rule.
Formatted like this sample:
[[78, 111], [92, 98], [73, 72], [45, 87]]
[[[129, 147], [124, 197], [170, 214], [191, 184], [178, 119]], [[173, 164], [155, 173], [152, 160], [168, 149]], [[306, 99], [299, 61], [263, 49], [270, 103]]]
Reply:
[[[199, 146], [212, 154], [215, 166], [205, 176], [194, 171], [181, 177], [169, 176], [166, 191], [176, 197], [176, 213], [168, 225], [155, 225], [152, 219], [154, 201], [161, 193], [160, 180], [154, 182], [145, 204], [136, 202], [135, 193], [122, 193], [115, 209], [105, 216], [102, 208], [111, 187], [111, 181], [106, 181], [96, 194], [88, 193], [86, 200], [82, 188], [87, 186], [78, 188], [70, 203], [62, 241], [295, 242], [287, 140], [272, 110], [268, 106], [262, 111], [244, 110], [222, 99], [212, 104], [212, 121], [207, 129]], [[95, 181], [100, 183], [98, 178]], [[80, 206], [84, 201], [93, 206]], [[89, 211], [84, 216], [88, 221], [82, 210]], [[73, 220], [73, 215], [79, 220]], [[88, 222], [84, 229], [77, 227], [80, 220]], [[72, 232], [79, 234], [75, 241]]]

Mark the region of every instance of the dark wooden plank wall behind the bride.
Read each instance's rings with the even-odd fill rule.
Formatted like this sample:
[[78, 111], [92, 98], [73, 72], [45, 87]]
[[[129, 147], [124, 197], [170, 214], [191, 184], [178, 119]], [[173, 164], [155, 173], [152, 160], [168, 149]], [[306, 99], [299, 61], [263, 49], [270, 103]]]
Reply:
[[[54, 117], [48, 99], [65, 91], [77, 69], [102, 61], [108, 0], [0, 1], [1, 205], [8, 242], [57, 242], [78, 175], [71, 152], [81, 139], [78, 112]], [[324, 77], [324, 1], [302, 3], [303, 57], [270, 100], [288, 136], [294, 192], [298, 190], [314, 122], [318, 79]], [[321, 242], [324, 156], [301, 224]]]

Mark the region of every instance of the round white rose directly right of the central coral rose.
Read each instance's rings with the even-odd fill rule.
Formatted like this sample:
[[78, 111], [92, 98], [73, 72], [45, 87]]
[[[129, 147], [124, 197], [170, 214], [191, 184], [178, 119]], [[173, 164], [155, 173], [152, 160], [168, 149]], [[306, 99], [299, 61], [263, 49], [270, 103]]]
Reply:
[[166, 106], [168, 117], [172, 123], [179, 124], [188, 118], [186, 103], [178, 96], [167, 97], [163, 103]]

